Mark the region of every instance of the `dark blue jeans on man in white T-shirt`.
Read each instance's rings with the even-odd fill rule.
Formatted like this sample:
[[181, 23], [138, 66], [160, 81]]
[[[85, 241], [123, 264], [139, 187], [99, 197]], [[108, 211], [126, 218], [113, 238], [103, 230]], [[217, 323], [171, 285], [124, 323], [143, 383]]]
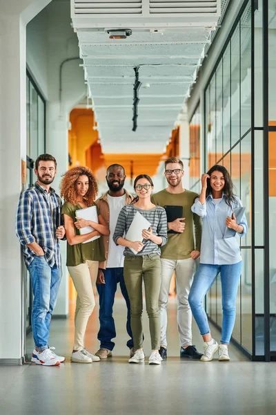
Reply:
[[101, 343], [100, 347], [104, 349], [113, 350], [115, 342], [111, 339], [116, 337], [115, 322], [112, 317], [113, 304], [115, 299], [115, 293], [117, 290], [117, 284], [119, 282], [121, 293], [126, 300], [127, 306], [127, 319], [126, 319], [126, 331], [130, 336], [130, 340], [126, 345], [131, 349], [133, 347], [133, 338], [130, 328], [130, 300], [128, 298], [128, 292], [126, 291], [126, 285], [124, 282], [124, 268], [106, 268], [103, 270], [104, 279], [106, 284], [97, 284], [97, 290], [99, 293], [99, 333], [98, 339]]

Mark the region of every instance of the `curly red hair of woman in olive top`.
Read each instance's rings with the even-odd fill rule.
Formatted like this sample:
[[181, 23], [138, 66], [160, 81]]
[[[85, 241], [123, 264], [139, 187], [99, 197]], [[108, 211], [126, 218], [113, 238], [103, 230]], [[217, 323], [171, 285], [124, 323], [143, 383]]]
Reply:
[[88, 206], [92, 206], [98, 193], [98, 185], [92, 171], [88, 167], [73, 167], [63, 175], [60, 185], [61, 196], [64, 201], [70, 202], [74, 206], [77, 205], [76, 183], [79, 176], [88, 176], [88, 192], [83, 199], [85, 199]]

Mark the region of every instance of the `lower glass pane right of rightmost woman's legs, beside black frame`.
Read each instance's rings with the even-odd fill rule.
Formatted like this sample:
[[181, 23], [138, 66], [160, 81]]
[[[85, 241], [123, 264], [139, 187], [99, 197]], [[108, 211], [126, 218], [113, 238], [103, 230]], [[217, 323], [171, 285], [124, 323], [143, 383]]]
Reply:
[[242, 261], [242, 346], [252, 353], [252, 260], [250, 249], [242, 249]]

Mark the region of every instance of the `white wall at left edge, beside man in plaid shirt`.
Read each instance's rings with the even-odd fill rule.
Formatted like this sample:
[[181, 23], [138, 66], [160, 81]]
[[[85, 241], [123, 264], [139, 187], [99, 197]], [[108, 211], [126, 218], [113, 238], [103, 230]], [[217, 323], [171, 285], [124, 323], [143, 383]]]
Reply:
[[46, 4], [0, 2], [0, 362], [19, 363], [24, 353], [21, 250], [14, 221], [21, 160], [26, 160], [26, 24]]

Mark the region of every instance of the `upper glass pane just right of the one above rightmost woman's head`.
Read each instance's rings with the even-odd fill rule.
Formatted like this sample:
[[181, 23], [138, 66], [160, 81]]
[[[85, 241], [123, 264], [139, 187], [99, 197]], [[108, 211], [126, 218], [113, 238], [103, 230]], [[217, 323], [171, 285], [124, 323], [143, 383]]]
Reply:
[[223, 56], [223, 128], [224, 141], [223, 152], [226, 153], [230, 149], [230, 44], [227, 46]]

